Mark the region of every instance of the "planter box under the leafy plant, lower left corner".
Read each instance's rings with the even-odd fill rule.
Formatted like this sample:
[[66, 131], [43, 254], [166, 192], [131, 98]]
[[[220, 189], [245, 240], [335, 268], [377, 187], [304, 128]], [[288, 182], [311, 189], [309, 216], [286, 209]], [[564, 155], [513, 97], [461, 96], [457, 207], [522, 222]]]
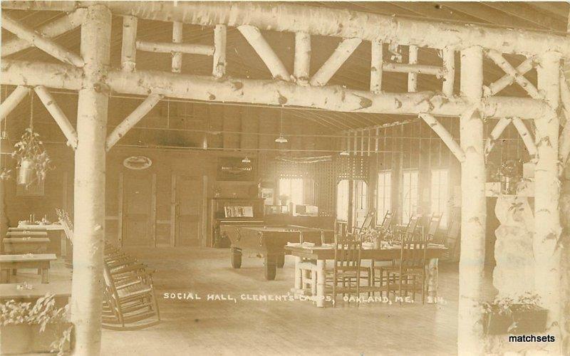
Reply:
[[[71, 323], [52, 323], [46, 325], [46, 330], [40, 333], [40, 325], [19, 324], [0, 326], [0, 354], [15, 355], [31, 352], [50, 352], [51, 343], [63, 336]], [[71, 333], [73, 339], [73, 330]], [[70, 350], [66, 342], [65, 351]]]

